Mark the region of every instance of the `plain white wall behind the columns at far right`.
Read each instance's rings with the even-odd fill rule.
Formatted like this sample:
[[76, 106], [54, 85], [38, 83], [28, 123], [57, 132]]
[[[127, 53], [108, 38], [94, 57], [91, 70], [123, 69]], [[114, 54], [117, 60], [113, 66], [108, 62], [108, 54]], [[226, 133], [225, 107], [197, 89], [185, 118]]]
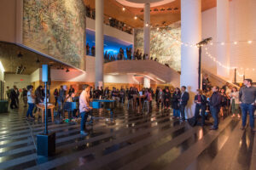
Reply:
[[[230, 66], [242, 67], [238, 72], [245, 72], [246, 78], [252, 78], [256, 82], [256, 42], [248, 44], [248, 41], [256, 40], [256, 1], [255, 0], [232, 0], [230, 1], [230, 42], [237, 41], [238, 44], [230, 44]], [[202, 37], [212, 37], [216, 42], [217, 28], [216, 8], [211, 8], [202, 13]], [[212, 56], [216, 56], [216, 45], [208, 45]], [[216, 64], [207, 57], [205, 50], [202, 51], [202, 67], [207, 71], [216, 74]], [[247, 70], [248, 68], [248, 70]], [[255, 69], [253, 71], [253, 68]], [[238, 82], [242, 77], [236, 77]], [[234, 71], [230, 71], [230, 80], [234, 82]]]

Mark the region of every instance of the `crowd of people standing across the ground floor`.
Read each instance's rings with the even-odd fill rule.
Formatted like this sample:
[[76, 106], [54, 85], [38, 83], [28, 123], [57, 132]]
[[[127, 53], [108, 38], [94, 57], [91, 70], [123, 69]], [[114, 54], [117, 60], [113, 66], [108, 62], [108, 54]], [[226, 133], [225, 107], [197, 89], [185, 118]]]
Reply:
[[[201, 115], [201, 126], [205, 126], [205, 120], [209, 113], [212, 114], [214, 120], [212, 130], [218, 129], [218, 116], [224, 116], [226, 113], [231, 113], [231, 116], [237, 118], [242, 117], [242, 127], [246, 126], [247, 112], [250, 115], [250, 127], [254, 131], [254, 110], [256, 102], [256, 88], [252, 86], [252, 80], [246, 79], [244, 86], [239, 90], [230, 83], [226, 83], [222, 88], [217, 86], [211, 86], [207, 75], [204, 76], [202, 81], [203, 89], [198, 89], [195, 94], [195, 116], [193, 122], [196, 124], [198, 118]], [[85, 93], [85, 91], [86, 93]], [[10, 100], [10, 108], [15, 109], [19, 105], [20, 92], [16, 86], [9, 88], [6, 92]], [[79, 95], [80, 94], [80, 95]], [[119, 107], [127, 104], [133, 110], [144, 110], [144, 105], [148, 105], [148, 112], [153, 110], [153, 101], [155, 100], [156, 111], [173, 111], [173, 119], [179, 119], [180, 122], [185, 122], [185, 108], [189, 102], [189, 92], [186, 87], [180, 88], [160, 88], [155, 90], [152, 88], [138, 89], [131, 88], [109, 88], [103, 89], [102, 87], [92, 88], [88, 85], [84, 86], [82, 93], [78, 93], [70, 86], [67, 90], [67, 86], [61, 86], [61, 88], [55, 88], [54, 91], [55, 106], [58, 108], [58, 116], [63, 116], [63, 105], [65, 102], [79, 102], [79, 111], [82, 116], [82, 124], [85, 125], [88, 111], [90, 111], [91, 99], [113, 99], [115, 100], [114, 106], [119, 104]], [[49, 98], [49, 91], [46, 95]], [[192, 96], [190, 96], [192, 97]], [[27, 86], [27, 89], [23, 88], [20, 99], [23, 99], [24, 106], [29, 105], [26, 114], [27, 119], [31, 116], [34, 118], [32, 111], [36, 104], [43, 103], [45, 98], [45, 91], [43, 86], [33, 92], [32, 86]], [[85, 99], [86, 98], [86, 99]], [[127, 99], [127, 103], [125, 102]], [[83, 106], [85, 105], [85, 106]], [[143, 105], [143, 107], [142, 107]], [[85, 112], [84, 112], [85, 111]], [[36, 110], [34, 111], [36, 112]], [[84, 112], [81, 114], [81, 112]], [[242, 113], [242, 114], [241, 114]], [[73, 112], [73, 116], [77, 116], [76, 112]], [[84, 133], [84, 127], [81, 127], [81, 133]]]

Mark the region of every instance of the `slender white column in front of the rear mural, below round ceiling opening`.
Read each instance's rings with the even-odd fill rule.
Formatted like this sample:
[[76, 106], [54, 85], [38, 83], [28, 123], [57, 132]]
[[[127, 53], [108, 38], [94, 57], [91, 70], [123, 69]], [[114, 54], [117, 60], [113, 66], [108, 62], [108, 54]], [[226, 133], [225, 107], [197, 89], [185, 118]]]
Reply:
[[150, 3], [144, 6], [144, 54], [150, 59]]

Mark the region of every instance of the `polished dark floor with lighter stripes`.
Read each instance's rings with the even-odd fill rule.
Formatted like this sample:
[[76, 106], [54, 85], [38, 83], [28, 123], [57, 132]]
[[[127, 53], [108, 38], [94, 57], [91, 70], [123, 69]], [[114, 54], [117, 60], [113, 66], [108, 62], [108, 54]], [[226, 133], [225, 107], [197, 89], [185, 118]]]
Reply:
[[1, 170], [256, 169], [256, 137], [249, 129], [241, 131], [241, 121], [231, 116], [221, 119], [217, 131], [209, 131], [172, 120], [172, 111], [147, 114], [125, 106], [114, 110], [114, 125], [98, 119], [87, 126], [87, 137], [80, 136], [79, 124], [49, 123], [56, 133], [56, 154], [45, 158], [35, 147], [44, 124], [26, 121], [25, 112], [20, 106], [0, 114]]

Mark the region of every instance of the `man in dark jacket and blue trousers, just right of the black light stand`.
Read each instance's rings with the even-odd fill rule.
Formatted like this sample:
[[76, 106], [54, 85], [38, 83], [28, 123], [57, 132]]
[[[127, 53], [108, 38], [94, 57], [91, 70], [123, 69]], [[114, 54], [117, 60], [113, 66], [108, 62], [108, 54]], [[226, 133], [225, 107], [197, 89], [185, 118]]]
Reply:
[[220, 110], [220, 104], [221, 104], [221, 95], [218, 93], [218, 86], [214, 86], [212, 88], [212, 96], [209, 99], [209, 105], [212, 113], [212, 117], [214, 119], [213, 126], [211, 127], [211, 130], [217, 130], [218, 129], [218, 112]]

